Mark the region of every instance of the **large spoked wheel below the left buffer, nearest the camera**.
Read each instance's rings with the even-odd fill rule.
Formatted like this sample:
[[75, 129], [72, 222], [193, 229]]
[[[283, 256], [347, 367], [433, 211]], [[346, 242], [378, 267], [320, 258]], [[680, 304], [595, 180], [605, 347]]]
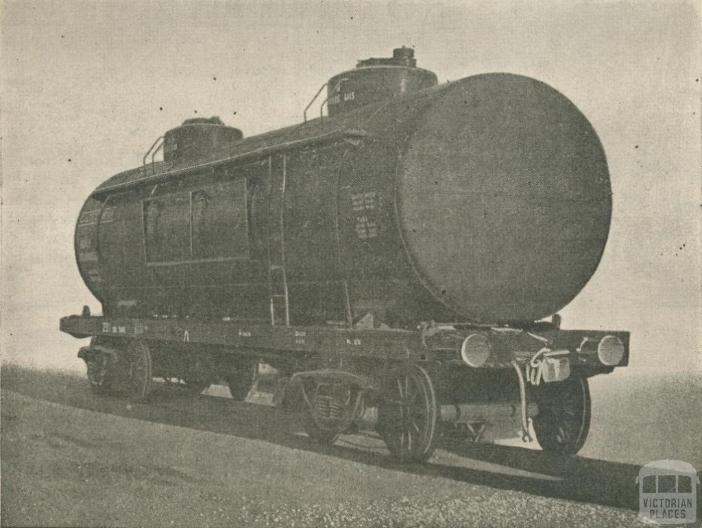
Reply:
[[378, 433], [401, 462], [426, 461], [435, 447], [437, 405], [434, 384], [419, 365], [395, 372], [378, 407]]

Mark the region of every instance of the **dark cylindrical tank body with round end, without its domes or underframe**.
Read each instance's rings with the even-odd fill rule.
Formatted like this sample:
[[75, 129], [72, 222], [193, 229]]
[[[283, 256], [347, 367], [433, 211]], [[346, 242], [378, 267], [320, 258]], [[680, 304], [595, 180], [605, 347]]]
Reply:
[[88, 198], [77, 260], [105, 313], [270, 320], [284, 262], [291, 324], [532, 321], [578, 294], [607, 241], [595, 130], [524, 76], [385, 92], [215, 158]]

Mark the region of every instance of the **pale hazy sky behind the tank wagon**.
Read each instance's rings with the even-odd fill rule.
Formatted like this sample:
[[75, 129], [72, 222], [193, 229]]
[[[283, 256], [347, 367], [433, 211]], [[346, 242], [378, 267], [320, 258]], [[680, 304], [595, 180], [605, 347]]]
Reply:
[[1, 16], [7, 356], [77, 364], [58, 318], [98, 304], [74, 263], [75, 218], [165, 130], [196, 115], [245, 135], [295, 123], [329, 76], [405, 44], [441, 82], [526, 74], [580, 107], [614, 217], [566, 326], [630, 330], [634, 366], [700, 368], [696, 3], [4, 1]]

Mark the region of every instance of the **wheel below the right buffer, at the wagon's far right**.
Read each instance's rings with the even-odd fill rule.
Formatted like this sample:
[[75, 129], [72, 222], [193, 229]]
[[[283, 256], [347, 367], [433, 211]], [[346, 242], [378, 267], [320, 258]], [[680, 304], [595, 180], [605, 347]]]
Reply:
[[536, 391], [538, 415], [534, 431], [541, 449], [559, 454], [576, 454], [590, 430], [590, 388], [588, 379], [571, 376], [564, 381], [543, 384]]

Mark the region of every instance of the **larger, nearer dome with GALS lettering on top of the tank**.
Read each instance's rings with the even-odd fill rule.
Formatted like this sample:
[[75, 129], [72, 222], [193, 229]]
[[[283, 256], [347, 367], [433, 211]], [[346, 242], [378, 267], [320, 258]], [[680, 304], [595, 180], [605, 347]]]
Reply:
[[390, 97], [437, 86], [437, 76], [418, 68], [412, 48], [395, 48], [392, 57], [359, 60], [356, 68], [329, 79], [329, 116], [345, 114]]

